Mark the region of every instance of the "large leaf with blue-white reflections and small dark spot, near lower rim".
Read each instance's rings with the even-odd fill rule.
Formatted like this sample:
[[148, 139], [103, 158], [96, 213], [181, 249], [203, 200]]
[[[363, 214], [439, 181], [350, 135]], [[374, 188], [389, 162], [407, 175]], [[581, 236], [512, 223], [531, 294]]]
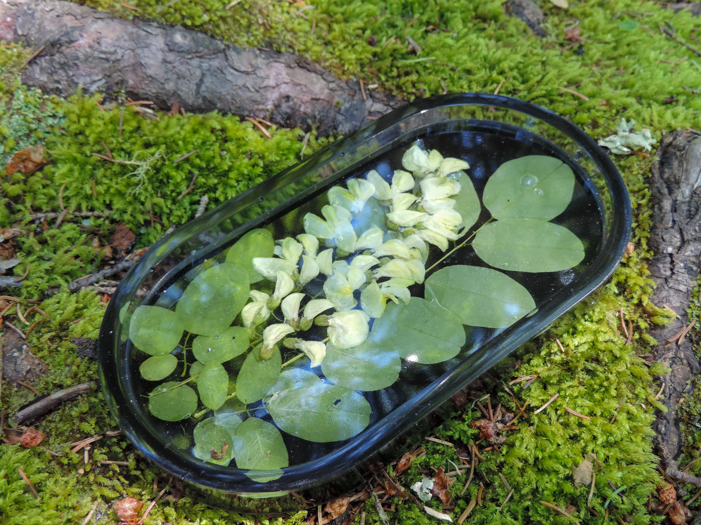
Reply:
[[370, 422], [372, 409], [362, 395], [306, 370], [285, 370], [272, 390], [268, 411], [273, 421], [304, 440], [347, 440]]

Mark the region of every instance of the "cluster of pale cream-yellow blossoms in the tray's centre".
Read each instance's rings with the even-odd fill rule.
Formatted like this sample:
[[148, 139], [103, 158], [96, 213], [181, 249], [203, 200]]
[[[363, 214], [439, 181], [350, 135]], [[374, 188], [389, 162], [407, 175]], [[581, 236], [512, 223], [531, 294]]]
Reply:
[[[334, 186], [322, 217], [304, 217], [305, 233], [276, 241], [274, 257], [254, 258], [254, 269], [275, 282], [275, 290], [251, 291], [241, 312], [245, 328], [253, 335], [278, 306], [285, 318], [264, 328], [261, 359], [283, 341], [315, 367], [325, 357], [326, 341], [339, 349], [362, 344], [371, 318], [382, 316], [387, 300], [408, 303], [408, 287], [423, 282], [428, 244], [445, 251], [458, 239], [462, 218], [451, 197], [460, 183], [451, 175], [468, 163], [414, 144], [402, 167], [390, 181], [372, 170], [365, 179], [348, 179], [346, 188]], [[325, 298], [302, 291], [315, 280], [323, 280]], [[324, 342], [287, 337], [314, 323], [327, 327]]]

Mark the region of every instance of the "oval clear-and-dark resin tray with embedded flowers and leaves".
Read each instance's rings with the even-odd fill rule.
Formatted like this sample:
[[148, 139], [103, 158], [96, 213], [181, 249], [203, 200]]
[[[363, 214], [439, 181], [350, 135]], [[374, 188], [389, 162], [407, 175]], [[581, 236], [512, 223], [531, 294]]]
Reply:
[[156, 243], [100, 332], [151, 461], [235, 496], [348, 475], [601, 285], [613, 163], [508, 97], [414, 102]]

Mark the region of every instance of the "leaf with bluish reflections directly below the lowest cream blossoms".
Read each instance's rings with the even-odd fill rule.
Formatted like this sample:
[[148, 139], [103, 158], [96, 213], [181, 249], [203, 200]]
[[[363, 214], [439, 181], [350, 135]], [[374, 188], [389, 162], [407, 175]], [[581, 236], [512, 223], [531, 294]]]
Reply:
[[[462, 328], [462, 327], [461, 327]], [[380, 390], [399, 379], [402, 360], [394, 349], [387, 349], [369, 334], [360, 346], [339, 349], [331, 343], [326, 345], [326, 356], [321, 371], [333, 384], [350, 390]]]

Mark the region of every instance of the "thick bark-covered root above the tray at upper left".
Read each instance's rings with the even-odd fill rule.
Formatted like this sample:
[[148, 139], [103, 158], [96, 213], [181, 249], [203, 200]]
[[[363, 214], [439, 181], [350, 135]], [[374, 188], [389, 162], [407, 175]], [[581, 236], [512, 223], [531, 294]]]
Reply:
[[72, 94], [124, 90], [161, 109], [218, 110], [348, 134], [403, 104], [290, 53], [240, 49], [197, 31], [121, 20], [60, 0], [0, 0], [0, 39], [41, 49], [26, 85]]

